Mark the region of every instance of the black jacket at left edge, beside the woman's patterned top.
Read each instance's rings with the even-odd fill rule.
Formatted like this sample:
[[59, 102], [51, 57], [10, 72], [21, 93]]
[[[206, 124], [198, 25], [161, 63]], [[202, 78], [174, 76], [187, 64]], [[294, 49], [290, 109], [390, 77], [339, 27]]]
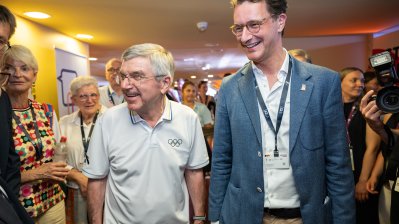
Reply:
[[12, 138], [12, 109], [6, 92], [0, 96], [0, 176], [8, 184], [15, 196], [19, 196], [21, 166], [19, 155], [15, 152]]

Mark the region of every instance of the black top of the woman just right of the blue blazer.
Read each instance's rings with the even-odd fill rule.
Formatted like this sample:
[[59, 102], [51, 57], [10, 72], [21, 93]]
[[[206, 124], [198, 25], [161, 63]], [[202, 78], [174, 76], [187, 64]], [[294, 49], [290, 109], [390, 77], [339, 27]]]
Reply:
[[[352, 110], [354, 103], [355, 102], [344, 104], [344, 114], [346, 121], [348, 120], [348, 116]], [[362, 171], [363, 157], [366, 151], [366, 121], [359, 111], [358, 106], [356, 106], [355, 110], [353, 111], [353, 118], [349, 123], [348, 131], [349, 139], [353, 147], [353, 161], [355, 166], [353, 176], [355, 183], [357, 183], [360, 177], [360, 173]]]

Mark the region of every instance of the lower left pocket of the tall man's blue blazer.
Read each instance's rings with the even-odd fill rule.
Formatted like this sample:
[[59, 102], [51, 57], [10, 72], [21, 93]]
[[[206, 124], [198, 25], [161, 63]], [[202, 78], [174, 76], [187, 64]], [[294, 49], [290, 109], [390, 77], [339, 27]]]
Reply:
[[240, 194], [241, 189], [229, 183], [222, 206], [221, 223], [240, 223]]

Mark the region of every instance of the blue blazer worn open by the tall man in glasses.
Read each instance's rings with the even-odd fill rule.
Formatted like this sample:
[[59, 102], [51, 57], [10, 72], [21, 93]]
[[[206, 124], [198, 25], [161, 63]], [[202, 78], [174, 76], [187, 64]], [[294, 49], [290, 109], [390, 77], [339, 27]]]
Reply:
[[[290, 162], [303, 222], [355, 223], [340, 78], [329, 69], [293, 59], [290, 90]], [[209, 192], [211, 221], [262, 223], [259, 116], [255, 77], [248, 63], [223, 80], [218, 94]]]

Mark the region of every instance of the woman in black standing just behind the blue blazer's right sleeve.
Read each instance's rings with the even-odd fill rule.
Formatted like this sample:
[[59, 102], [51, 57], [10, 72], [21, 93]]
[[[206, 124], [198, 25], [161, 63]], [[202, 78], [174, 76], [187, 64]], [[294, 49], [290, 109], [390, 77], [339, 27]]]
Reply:
[[366, 186], [377, 158], [380, 138], [367, 125], [359, 111], [364, 88], [363, 71], [347, 67], [340, 71], [340, 76], [355, 181], [356, 223], [378, 223], [378, 195], [370, 194]]

